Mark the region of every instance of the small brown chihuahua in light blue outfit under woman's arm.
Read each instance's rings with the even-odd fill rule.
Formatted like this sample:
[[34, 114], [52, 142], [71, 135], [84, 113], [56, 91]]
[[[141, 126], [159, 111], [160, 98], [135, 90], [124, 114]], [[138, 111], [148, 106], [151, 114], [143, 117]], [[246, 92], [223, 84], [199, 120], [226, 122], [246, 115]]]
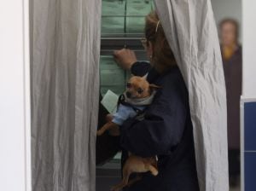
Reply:
[[[113, 130], [115, 131], [114, 136], [119, 136], [119, 125], [123, 124], [125, 119], [132, 118], [137, 115], [131, 107], [143, 109], [145, 106], [149, 105], [154, 98], [155, 90], [159, 88], [160, 87], [157, 85], [148, 84], [148, 81], [144, 77], [131, 77], [126, 84], [124, 94], [125, 103], [128, 103], [129, 105], [124, 106], [121, 102], [117, 113], [113, 114], [113, 120], [103, 125], [103, 127], [97, 131], [97, 136], [101, 136], [106, 130]], [[125, 113], [125, 116], [123, 113]], [[129, 158], [125, 161], [123, 180], [118, 185], [114, 186], [112, 190], [119, 191], [125, 186], [130, 186], [132, 183], [141, 179], [141, 177], [137, 176], [129, 181], [131, 173], [147, 171], [150, 171], [154, 176], [157, 176], [158, 170], [156, 157], [142, 158], [134, 154], [130, 154]]]

